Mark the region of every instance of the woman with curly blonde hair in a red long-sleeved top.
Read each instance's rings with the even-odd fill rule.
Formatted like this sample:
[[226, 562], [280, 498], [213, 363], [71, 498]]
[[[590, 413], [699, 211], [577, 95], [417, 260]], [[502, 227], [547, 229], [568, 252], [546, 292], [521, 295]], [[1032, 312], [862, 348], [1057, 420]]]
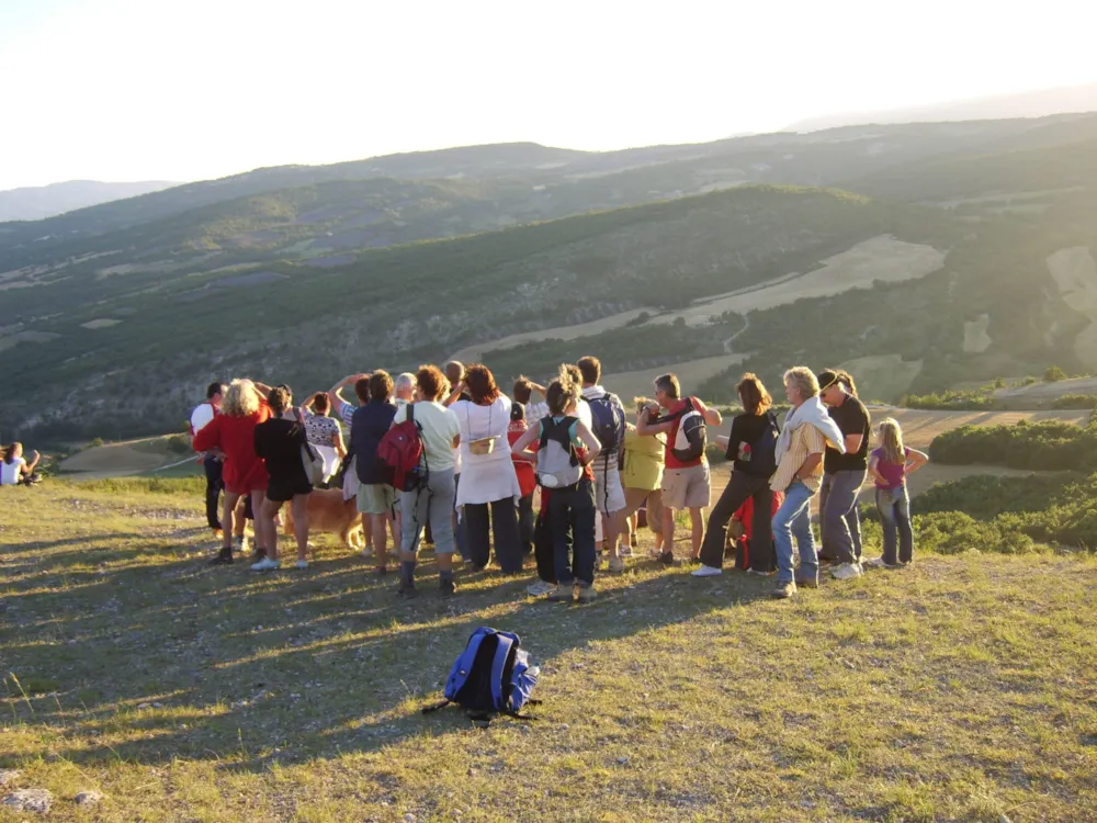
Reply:
[[[262, 510], [267, 497], [267, 466], [256, 454], [256, 426], [270, 418], [270, 406], [265, 394], [270, 386], [252, 383], [250, 380], [234, 380], [225, 394], [220, 414], [206, 424], [194, 436], [191, 446], [194, 451], [219, 449], [225, 454], [222, 477], [225, 482], [225, 506], [222, 514], [222, 530], [225, 543], [220, 553], [210, 561], [213, 565], [233, 562], [233, 512], [236, 501], [246, 495], [251, 497], [251, 510]], [[256, 559], [267, 555], [270, 534], [260, 527], [256, 518]]]

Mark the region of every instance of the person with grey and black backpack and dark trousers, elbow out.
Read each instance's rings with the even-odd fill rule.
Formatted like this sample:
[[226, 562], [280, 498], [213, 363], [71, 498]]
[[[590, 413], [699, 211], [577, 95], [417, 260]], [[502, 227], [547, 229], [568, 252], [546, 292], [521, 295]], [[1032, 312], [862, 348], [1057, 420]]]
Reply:
[[[575, 414], [580, 387], [566, 370], [548, 386], [548, 417], [530, 427], [511, 447], [523, 456], [540, 442], [538, 476], [548, 496], [556, 586], [547, 593], [554, 602], [580, 602], [595, 597], [595, 493], [589, 470], [601, 450], [598, 438]], [[574, 553], [574, 557], [572, 556]]]

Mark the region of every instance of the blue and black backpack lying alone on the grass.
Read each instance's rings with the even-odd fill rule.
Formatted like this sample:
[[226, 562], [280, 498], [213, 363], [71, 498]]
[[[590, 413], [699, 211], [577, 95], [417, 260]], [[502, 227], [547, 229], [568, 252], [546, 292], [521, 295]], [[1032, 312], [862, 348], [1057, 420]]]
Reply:
[[490, 720], [494, 714], [532, 720], [519, 712], [536, 704], [530, 694], [541, 669], [530, 665], [529, 652], [511, 632], [480, 627], [457, 655], [442, 692], [444, 700], [422, 710], [423, 714], [456, 703], [473, 720]]

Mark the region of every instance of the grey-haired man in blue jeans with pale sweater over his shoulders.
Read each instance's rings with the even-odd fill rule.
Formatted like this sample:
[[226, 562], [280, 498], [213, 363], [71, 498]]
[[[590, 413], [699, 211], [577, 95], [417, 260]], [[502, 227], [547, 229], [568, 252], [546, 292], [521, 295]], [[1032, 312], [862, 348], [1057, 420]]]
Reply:
[[[811, 503], [823, 482], [823, 452], [829, 440], [839, 453], [846, 446], [841, 431], [819, 401], [814, 372], [803, 365], [784, 373], [784, 394], [792, 409], [777, 443], [777, 471], [770, 488], [784, 492], [784, 503], [773, 515], [777, 544], [777, 588], [773, 597], [789, 598], [798, 586], [818, 588], [818, 560], [812, 533]], [[799, 573], [793, 567], [792, 539], [800, 549]]]

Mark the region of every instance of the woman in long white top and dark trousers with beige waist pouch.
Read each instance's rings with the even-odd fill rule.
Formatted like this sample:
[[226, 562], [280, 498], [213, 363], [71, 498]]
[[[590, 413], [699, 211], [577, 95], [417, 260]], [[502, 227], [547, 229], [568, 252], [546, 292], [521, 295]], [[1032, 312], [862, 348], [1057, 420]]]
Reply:
[[510, 459], [507, 430], [510, 398], [495, 384], [491, 371], [479, 363], [468, 367], [464, 388], [472, 399], [450, 406], [461, 430], [461, 484], [456, 505], [464, 509], [465, 560], [480, 571], [490, 559], [490, 535], [495, 537], [495, 560], [504, 572], [522, 571], [522, 548], [518, 530], [518, 500], [522, 496]]

